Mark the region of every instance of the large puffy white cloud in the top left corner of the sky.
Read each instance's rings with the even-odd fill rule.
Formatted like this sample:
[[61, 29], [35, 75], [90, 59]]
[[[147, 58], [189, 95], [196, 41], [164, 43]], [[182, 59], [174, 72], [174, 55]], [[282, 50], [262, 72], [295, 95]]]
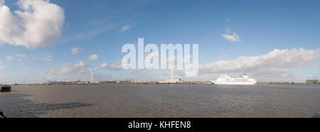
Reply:
[[38, 48], [60, 38], [65, 21], [60, 6], [45, 0], [18, 0], [21, 11], [12, 13], [4, 0], [0, 3], [0, 41]]

